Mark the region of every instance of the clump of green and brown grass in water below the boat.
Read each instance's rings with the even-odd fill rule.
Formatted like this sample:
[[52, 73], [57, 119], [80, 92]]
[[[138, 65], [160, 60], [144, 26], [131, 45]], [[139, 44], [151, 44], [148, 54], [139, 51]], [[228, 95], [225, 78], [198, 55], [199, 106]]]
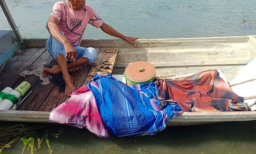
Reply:
[[[52, 135], [56, 138], [62, 133], [63, 129], [58, 134], [49, 133], [47, 125], [43, 124], [9, 124], [1, 123], [1, 132], [0, 132], [0, 154], [4, 148], [11, 148], [11, 144], [22, 142], [24, 147], [22, 153], [27, 149], [30, 153], [33, 154], [34, 151], [37, 151], [41, 148], [40, 144], [42, 141], [47, 143], [49, 154], [52, 154], [52, 148], [49, 143], [48, 135]], [[37, 147], [35, 146], [35, 140], [37, 141]]]

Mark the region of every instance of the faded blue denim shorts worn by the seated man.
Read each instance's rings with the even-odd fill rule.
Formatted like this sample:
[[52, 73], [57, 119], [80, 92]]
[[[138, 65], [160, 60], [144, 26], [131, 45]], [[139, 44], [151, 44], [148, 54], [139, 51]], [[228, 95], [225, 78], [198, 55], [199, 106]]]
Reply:
[[[97, 51], [94, 48], [84, 48], [79, 45], [73, 45], [74, 49], [77, 50], [77, 60], [81, 57], [88, 58], [89, 63], [93, 63], [97, 59]], [[56, 60], [59, 54], [66, 56], [64, 45], [58, 40], [50, 36], [46, 41], [46, 48], [49, 54]], [[69, 61], [69, 60], [67, 60]]]

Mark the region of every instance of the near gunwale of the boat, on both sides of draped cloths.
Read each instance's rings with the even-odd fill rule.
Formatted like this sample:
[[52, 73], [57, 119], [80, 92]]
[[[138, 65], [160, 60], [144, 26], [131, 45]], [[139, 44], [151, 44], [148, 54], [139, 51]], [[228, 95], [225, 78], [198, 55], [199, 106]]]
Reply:
[[[17, 111], [0, 110], [0, 121], [19, 121], [49, 123], [50, 112], [42, 111]], [[189, 125], [217, 123], [227, 121], [250, 121], [256, 120], [256, 111], [234, 111], [234, 112], [185, 112], [171, 120], [168, 125]]]

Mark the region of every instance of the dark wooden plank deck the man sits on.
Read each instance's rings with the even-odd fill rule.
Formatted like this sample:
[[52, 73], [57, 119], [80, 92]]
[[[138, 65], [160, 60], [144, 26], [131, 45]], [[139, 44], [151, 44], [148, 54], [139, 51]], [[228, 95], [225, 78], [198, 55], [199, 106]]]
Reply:
[[[92, 65], [102, 65], [102, 61], [115, 61], [118, 53], [117, 48], [95, 48], [98, 52], [97, 60]], [[104, 50], [116, 50], [116, 53], [106, 53]], [[23, 101], [17, 110], [25, 111], [52, 111], [55, 107], [66, 101], [69, 97], [59, 93], [58, 86], [52, 82], [48, 85], [42, 85], [42, 81], [35, 75], [27, 75], [23, 78], [19, 75], [24, 70], [34, 70], [38, 64], [48, 61], [46, 65], [54, 66], [57, 62], [49, 55], [45, 47], [27, 48], [20, 55], [15, 55], [6, 62], [6, 66], [0, 74], [0, 90], [9, 86], [16, 88], [21, 82], [28, 81], [31, 84], [29, 91], [32, 93]], [[90, 81], [92, 76], [88, 77], [91, 71], [91, 64], [84, 64], [77, 68], [70, 69], [71, 78], [78, 89], [86, 81]], [[23, 99], [21, 98], [21, 99]]]

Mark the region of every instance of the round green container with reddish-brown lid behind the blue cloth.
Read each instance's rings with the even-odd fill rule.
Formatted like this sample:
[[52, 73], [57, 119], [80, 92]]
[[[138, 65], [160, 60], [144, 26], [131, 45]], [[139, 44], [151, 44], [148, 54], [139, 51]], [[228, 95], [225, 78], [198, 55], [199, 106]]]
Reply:
[[126, 67], [124, 77], [129, 86], [150, 83], [156, 77], [156, 70], [154, 65], [148, 62], [137, 61]]

